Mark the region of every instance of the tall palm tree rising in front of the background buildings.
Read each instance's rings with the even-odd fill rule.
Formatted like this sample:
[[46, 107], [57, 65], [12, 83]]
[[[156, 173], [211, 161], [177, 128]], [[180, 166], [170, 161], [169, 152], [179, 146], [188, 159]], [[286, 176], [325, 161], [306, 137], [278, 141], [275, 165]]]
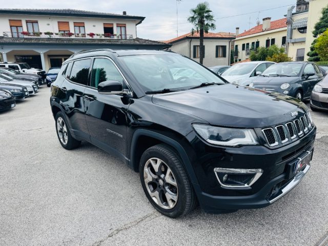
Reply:
[[203, 64], [204, 32], [215, 30], [215, 19], [207, 2], [199, 3], [196, 8], [190, 10], [190, 13], [192, 16], [188, 17], [188, 22], [194, 25], [191, 29], [192, 35], [194, 35], [195, 29], [197, 33], [199, 32], [199, 63]]

